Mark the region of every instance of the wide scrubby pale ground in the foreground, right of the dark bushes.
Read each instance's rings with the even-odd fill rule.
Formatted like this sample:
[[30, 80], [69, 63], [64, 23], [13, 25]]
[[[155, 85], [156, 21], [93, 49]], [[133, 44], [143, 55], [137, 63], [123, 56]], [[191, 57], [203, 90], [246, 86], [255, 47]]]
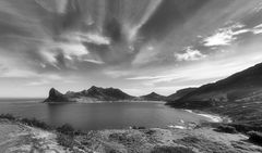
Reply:
[[[212, 128], [130, 129], [90, 131], [75, 138], [84, 146], [100, 153], [261, 153], [241, 133], [221, 133]], [[184, 151], [177, 151], [177, 149]], [[188, 151], [186, 151], [188, 150]]]

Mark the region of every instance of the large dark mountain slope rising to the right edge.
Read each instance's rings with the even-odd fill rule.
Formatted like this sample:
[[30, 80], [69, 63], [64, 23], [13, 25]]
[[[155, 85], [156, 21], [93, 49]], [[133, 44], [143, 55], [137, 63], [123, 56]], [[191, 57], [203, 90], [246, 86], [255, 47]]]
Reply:
[[262, 100], [262, 63], [169, 102], [179, 107], [209, 107], [228, 102]]

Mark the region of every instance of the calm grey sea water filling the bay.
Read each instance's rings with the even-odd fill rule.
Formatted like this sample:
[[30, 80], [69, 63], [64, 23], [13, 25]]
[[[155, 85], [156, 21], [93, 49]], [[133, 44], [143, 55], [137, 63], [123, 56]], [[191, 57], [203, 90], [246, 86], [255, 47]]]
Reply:
[[46, 104], [41, 99], [0, 99], [0, 114], [37, 118], [52, 126], [71, 124], [82, 130], [136, 127], [168, 127], [183, 123], [210, 120], [164, 103], [116, 102]]

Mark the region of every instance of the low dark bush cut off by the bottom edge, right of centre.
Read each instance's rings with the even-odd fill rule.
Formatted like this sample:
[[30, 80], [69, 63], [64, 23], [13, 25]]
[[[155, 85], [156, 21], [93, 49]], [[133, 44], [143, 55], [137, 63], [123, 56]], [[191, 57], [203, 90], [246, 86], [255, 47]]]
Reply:
[[183, 146], [155, 146], [151, 153], [194, 153], [191, 149]]

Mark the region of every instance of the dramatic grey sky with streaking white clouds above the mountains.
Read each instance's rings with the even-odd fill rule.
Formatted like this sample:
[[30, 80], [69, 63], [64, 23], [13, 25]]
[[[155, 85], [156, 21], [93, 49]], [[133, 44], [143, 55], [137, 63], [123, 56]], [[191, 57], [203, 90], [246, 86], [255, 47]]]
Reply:
[[0, 97], [168, 95], [262, 62], [261, 0], [0, 0]]

